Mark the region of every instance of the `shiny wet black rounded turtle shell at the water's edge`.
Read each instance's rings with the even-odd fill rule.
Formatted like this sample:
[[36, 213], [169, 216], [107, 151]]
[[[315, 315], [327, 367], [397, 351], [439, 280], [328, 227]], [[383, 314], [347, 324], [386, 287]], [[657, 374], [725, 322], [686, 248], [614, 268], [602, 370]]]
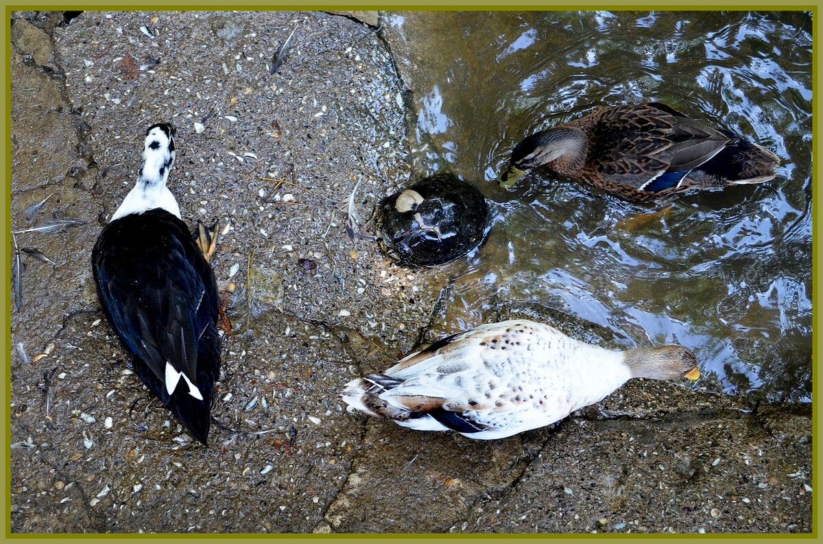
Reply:
[[384, 198], [377, 229], [388, 256], [407, 266], [449, 263], [486, 238], [489, 206], [477, 188], [436, 174]]

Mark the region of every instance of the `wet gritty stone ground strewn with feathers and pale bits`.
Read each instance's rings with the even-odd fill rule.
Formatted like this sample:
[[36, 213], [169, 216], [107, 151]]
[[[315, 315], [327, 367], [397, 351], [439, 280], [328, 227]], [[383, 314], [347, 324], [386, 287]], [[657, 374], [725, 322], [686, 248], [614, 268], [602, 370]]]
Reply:
[[[13, 13], [12, 229], [85, 224], [16, 235], [54, 264], [23, 254], [12, 308], [12, 532], [811, 531], [808, 405], [632, 383], [494, 442], [346, 413], [342, 384], [432, 339], [460, 266], [408, 270], [346, 237], [356, 185], [368, 217], [412, 175], [413, 85], [377, 23]], [[184, 220], [222, 231], [212, 263], [231, 333], [208, 448], [128, 369], [91, 277], [159, 121], [178, 127]]]

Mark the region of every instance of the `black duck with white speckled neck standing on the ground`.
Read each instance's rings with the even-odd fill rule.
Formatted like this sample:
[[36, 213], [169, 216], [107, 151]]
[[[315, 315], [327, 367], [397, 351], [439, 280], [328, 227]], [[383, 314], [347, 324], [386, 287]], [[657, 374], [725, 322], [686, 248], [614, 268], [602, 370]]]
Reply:
[[207, 444], [220, 374], [219, 299], [205, 249], [166, 187], [174, 156], [174, 127], [152, 125], [137, 184], [100, 233], [92, 267], [100, 304], [135, 372]]

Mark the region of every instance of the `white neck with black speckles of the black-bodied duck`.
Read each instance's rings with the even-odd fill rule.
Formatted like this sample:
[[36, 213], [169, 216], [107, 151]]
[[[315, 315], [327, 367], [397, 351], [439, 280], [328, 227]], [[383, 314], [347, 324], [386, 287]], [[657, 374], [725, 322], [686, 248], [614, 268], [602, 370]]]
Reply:
[[143, 162], [140, 165], [140, 174], [137, 184], [128, 192], [123, 203], [114, 212], [111, 220], [119, 219], [133, 213], [142, 213], [156, 208], [162, 208], [170, 214], [180, 217], [180, 207], [169, 188], [165, 186], [169, 178], [169, 170], [174, 164], [174, 150], [152, 150], [146, 147], [143, 151]]

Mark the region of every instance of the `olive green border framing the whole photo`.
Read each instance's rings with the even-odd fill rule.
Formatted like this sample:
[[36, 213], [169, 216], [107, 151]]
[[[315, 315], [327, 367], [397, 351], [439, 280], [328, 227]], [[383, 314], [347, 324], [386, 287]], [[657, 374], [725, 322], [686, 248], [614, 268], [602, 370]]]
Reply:
[[[151, 0], [150, 0], [151, 1]], [[499, 1], [499, 0], [497, 0]], [[46, 533], [12, 533], [11, 530], [11, 523], [12, 523], [12, 516], [11, 516], [11, 449], [10, 444], [12, 442], [12, 426], [11, 426], [11, 414], [8, 410], [9, 402], [11, 398], [12, 392], [12, 383], [11, 383], [11, 375], [9, 373], [9, 358], [11, 357], [12, 353], [12, 346], [11, 346], [11, 321], [12, 321], [12, 303], [11, 303], [11, 210], [12, 205], [12, 194], [11, 194], [11, 138], [10, 138], [10, 130], [11, 130], [11, 52], [12, 52], [12, 44], [11, 44], [11, 26], [12, 26], [12, 12], [19, 11], [19, 10], [42, 10], [42, 11], [52, 11], [52, 10], [65, 10], [68, 8], [72, 9], [82, 9], [86, 11], [103, 11], [103, 10], [110, 10], [110, 11], [123, 11], [123, 10], [134, 10], [134, 11], [192, 11], [192, 10], [200, 10], [200, 9], [226, 9], [230, 8], [231, 11], [267, 11], [267, 10], [301, 10], [301, 11], [324, 11], [324, 10], [363, 10], [363, 11], [376, 11], [376, 10], [436, 10], [436, 11], [454, 11], [460, 9], [474, 9], [474, 10], [483, 10], [483, 11], [537, 11], [537, 10], [546, 10], [546, 11], [578, 11], [578, 10], [608, 10], [608, 11], [625, 11], [625, 10], [655, 10], [657, 9], [660, 11], [750, 11], [753, 8], [760, 8], [760, 9], [773, 9], [776, 11], [809, 11], [812, 13], [812, 146], [813, 146], [813, 159], [812, 160], [812, 187], [811, 187], [811, 194], [812, 194], [812, 265], [811, 265], [811, 273], [812, 273], [812, 293], [811, 293], [811, 300], [812, 300], [812, 341], [811, 341], [811, 353], [812, 353], [812, 399], [816, 399], [818, 393], [818, 387], [816, 382], [816, 377], [819, 375], [819, 368], [818, 365], [821, 362], [820, 357], [820, 342], [819, 337], [814, 332], [817, 332], [818, 325], [820, 324], [820, 311], [818, 310], [821, 295], [820, 291], [818, 291], [818, 286], [820, 285], [820, 281], [816, 281], [818, 277], [818, 272], [820, 272], [820, 255], [821, 249], [823, 249], [823, 242], [821, 242], [821, 236], [818, 232], [820, 227], [820, 213], [817, 208], [814, 206], [817, 202], [817, 196], [820, 193], [819, 185], [820, 182], [817, 181], [817, 174], [820, 172], [820, 167], [818, 165], [819, 157], [821, 157], [821, 142], [816, 138], [821, 134], [820, 131], [820, 120], [818, 119], [817, 115], [820, 112], [819, 103], [820, 97], [816, 94], [817, 89], [820, 87], [818, 84], [821, 81], [821, 71], [818, 69], [820, 66], [819, 63], [819, 54], [818, 54], [818, 40], [816, 40], [817, 36], [820, 35], [821, 30], [823, 30], [823, 24], [821, 24], [820, 14], [821, 11], [819, 9], [821, 0], [814, 0], [814, 3], [797, 3], [791, 4], [788, 6], [780, 6], [779, 4], [775, 4], [774, 2], [768, 2], [764, 0], [725, 0], [722, 3], [718, 4], [717, 2], [712, 2], [712, 0], [691, 0], [687, 3], [663, 3], [653, 1], [653, 0], [634, 0], [633, 2], [627, 3], [620, 3], [615, 2], [614, 4], [602, 3], [597, 2], [593, 4], [573, 4], [568, 2], [568, 0], [545, 0], [540, 2], [539, 0], [516, 0], [516, 4], [510, 6], [501, 6], [497, 4], [495, 0], [445, 0], [444, 2], [438, 2], [437, 0], [399, 0], [399, 1], [391, 1], [391, 0], [324, 0], [322, 2], [314, 3], [309, 0], [311, 3], [300, 4], [295, 2], [295, 0], [271, 0], [269, 2], [265, 2], [263, 0], [241, 0], [241, 4], [234, 5], [234, 6], [227, 6], [225, 2], [221, 2], [221, 0], [174, 0], [172, 2], [173, 5], [162, 5], [162, 4], [145, 4], [140, 3], [135, 0], [123, 0], [119, 2], [119, 4], [114, 4], [111, 0], [83, 0], [81, 2], [77, 2], [80, 4], [72, 4], [69, 2], [44, 2], [38, 4], [27, 4], [24, 2], [16, 1], [16, 2], [3, 2], [2, 5], [5, 8], [5, 20], [3, 24], [0, 25], [0, 40], [2, 40], [2, 44], [4, 44], [4, 50], [2, 55], [2, 62], [0, 62], [0, 73], [3, 75], [3, 86], [2, 86], [2, 93], [3, 98], [2, 100], [2, 116], [0, 116], [0, 133], [3, 136], [3, 145], [0, 146], [0, 157], [2, 157], [2, 164], [3, 164], [3, 179], [2, 183], [2, 225], [3, 225], [3, 233], [2, 233], [2, 254], [0, 254], [0, 263], [2, 263], [2, 278], [3, 278], [3, 291], [2, 291], [2, 305], [4, 311], [2, 312], [2, 318], [0, 318], [0, 322], [2, 322], [2, 330], [0, 330], [0, 338], [2, 338], [2, 356], [0, 356], [0, 361], [2, 361], [2, 366], [0, 366], [0, 381], [4, 384], [4, 387], [0, 388], [0, 413], [2, 413], [2, 422], [3, 422], [3, 430], [2, 433], [2, 456], [0, 456], [0, 481], [2, 481], [2, 493], [0, 493], [0, 512], [2, 512], [2, 533], [0, 533], [0, 538], [3, 540], [6, 539], [25, 539], [28, 542], [53, 542], [54, 538], [70, 538], [72, 540], [76, 540], [78, 538], [106, 538], [106, 539], [146, 539], [149, 538], [154, 542], [163, 542], [168, 540], [169, 542], [173, 542], [172, 539], [187, 539], [187, 538], [221, 538], [224, 540], [231, 540], [231, 541], [245, 541], [248, 542], [249, 539], [276, 539], [277, 542], [295, 542], [295, 541], [303, 541], [306, 538], [326, 538], [326, 539], [351, 539], [351, 538], [381, 538], [386, 540], [391, 540], [393, 542], [418, 542], [421, 540], [437, 540], [437, 541], [453, 541], [455, 539], [465, 540], [465, 539], [488, 539], [493, 538], [495, 540], [501, 540], [504, 542], [508, 542], [509, 540], [522, 541], [523, 539], [542, 539], [547, 540], [551, 538], [552, 542], [568, 542], [571, 540], [577, 540], [579, 538], [592, 538], [595, 535], [590, 535], [588, 533], [579, 533], [579, 534], [565, 534], [565, 533], [538, 533], [538, 534], [470, 534], [470, 535], [450, 535], [450, 534], [432, 534], [432, 533], [412, 533], [412, 534], [394, 534], [394, 533], [386, 533], [386, 534], [341, 534], [335, 533], [332, 535], [319, 535], [319, 534], [303, 534], [303, 535], [291, 535], [291, 534], [270, 534], [270, 533], [230, 533], [226, 534], [212, 534], [212, 533], [198, 533], [198, 534], [131, 534], [131, 533], [111, 533], [111, 534], [78, 534], [78, 533], [59, 533], [59, 534], [46, 534]], [[818, 477], [817, 469], [820, 466], [820, 463], [817, 463], [817, 454], [820, 452], [820, 448], [818, 447], [818, 440], [820, 433], [819, 425], [820, 425], [820, 405], [818, 402], [813, 402], [813, 410], [812, 410], [812, 427], [813, 427], [813, 435], [812, 435], [812, 443], [811, 443], [811, 452], [812, 452], [812, 491], [813, 493], [820, 493], [819, 482], [820, 478]], [[821, 501], [819, 500], [819, 495], [814, 495], [812, 499], [812, 531], [811, 533], [802, 533], [802, 534], [783, 534], [783, 533], [728, 533], [728, 534], [672, 534], [672, 535], [663, 535], [660, 533], [657, 534], [601, 534], [597, 535], [598, 538], [643, 538], [645, 542], [649, 542], [649, 539], [656, 541], [658, 539], [663, 540], [665, 539], [682, 539], [682, 538], [694, 538], [698, 539], [703, 542], [716, 542], [720, 539], [723, 540], [741, 540], [743, 538], [757, 538], [763, 539], [768, 538], [770, 540], [796, 540], [797, 538], [801, 539], [817, 539], [817, 523], [819, 521], [819, 514], [820, 514], [820, 506]]]

